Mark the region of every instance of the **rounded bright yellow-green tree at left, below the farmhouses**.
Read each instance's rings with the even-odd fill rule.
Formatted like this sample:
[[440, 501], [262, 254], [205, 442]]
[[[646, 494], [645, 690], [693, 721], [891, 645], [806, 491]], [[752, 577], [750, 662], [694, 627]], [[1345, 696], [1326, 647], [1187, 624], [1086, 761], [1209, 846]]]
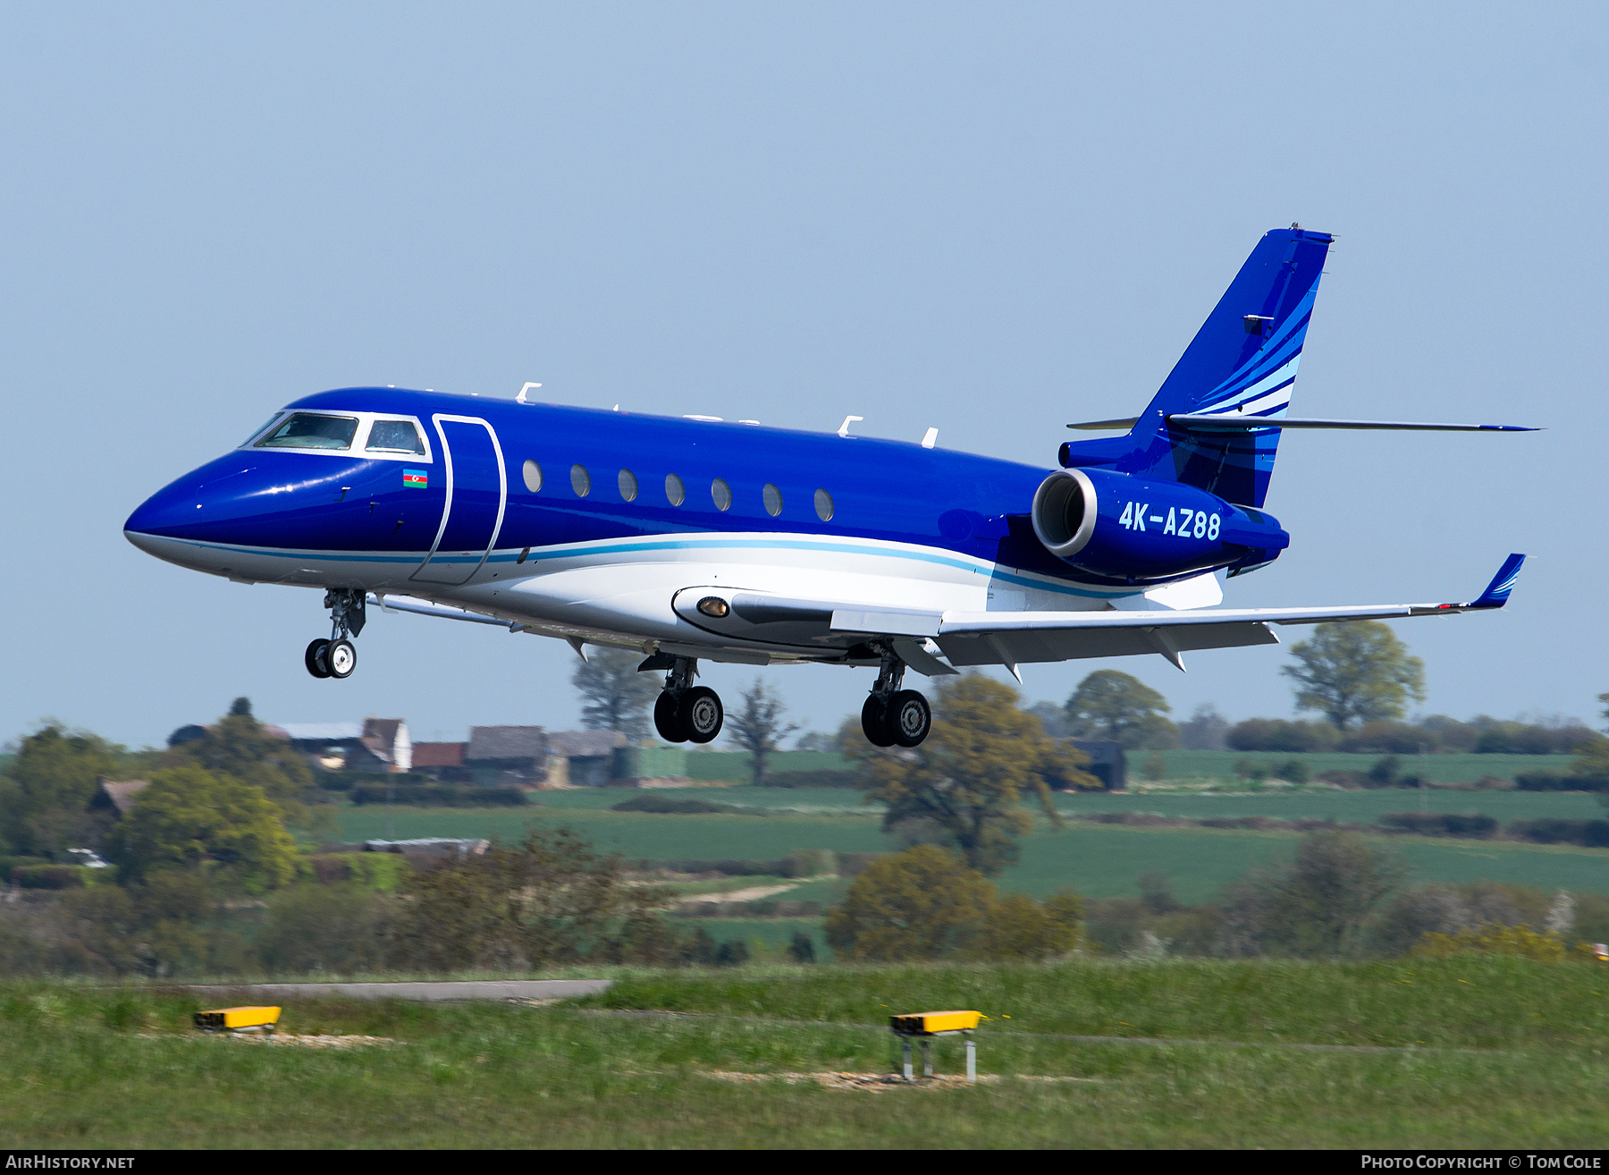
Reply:
[[296, 876], [296, 842], [261, 787], [198, 766], [158, 771], [108, 837], [119, 879], [212, 863], [248, 890]]

